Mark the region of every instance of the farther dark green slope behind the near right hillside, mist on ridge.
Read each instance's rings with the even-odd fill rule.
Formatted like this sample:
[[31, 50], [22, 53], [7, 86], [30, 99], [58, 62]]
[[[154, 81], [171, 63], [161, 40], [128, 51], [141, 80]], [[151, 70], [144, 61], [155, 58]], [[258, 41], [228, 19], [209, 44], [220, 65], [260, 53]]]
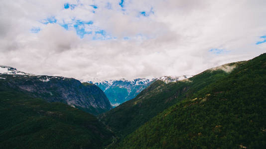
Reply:
[[191, 78], [167, 84], [161, 80], [156, 80], [134, 99], [99, 115], [99, 118], [123, 138], [166, 108], [192, 96], [195, 91], [216, 82], [218, 79], [226, 77], [229, 75], [230, 69], [232, 70], [242, 63], [245, 62], [227, 64]]

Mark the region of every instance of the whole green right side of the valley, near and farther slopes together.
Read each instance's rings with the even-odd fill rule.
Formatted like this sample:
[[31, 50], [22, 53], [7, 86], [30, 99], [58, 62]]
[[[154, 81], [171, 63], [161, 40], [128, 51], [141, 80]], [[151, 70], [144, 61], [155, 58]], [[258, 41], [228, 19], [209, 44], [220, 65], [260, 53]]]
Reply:
[[264, 149], [266, 54], [157, 80], [98, 118], [117, 134], [110, 149]]

